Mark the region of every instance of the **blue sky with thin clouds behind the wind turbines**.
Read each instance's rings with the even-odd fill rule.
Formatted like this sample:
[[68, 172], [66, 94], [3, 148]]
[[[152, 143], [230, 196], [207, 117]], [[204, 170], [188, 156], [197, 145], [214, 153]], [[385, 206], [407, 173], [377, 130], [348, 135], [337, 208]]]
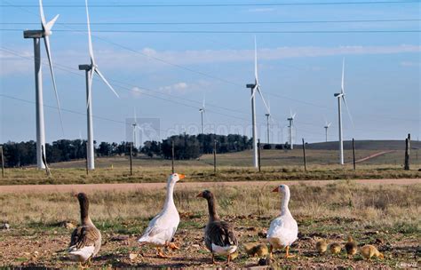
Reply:
[[[304, 1], [301, 1], [304, 2]], [[326, 1], [306, 1], [326, 3]], [[341, 2], [341, 1], [336, 1]], [[344, 1], [346, 2], [346, 1]], [[349, 1], [348, 1], [349, 2]], [[350, 1], [356, 2], [356, 1]], [[370, 0], [370, 2], [376, 2]], [[32, 41], [23, 29], [39, 26], [38, 1], [1, 2], [0, 141], [35, 139], [35, 86]], [[46, 140], [86, 137], [84, 74], [89, 62], [84, 1], [44, 0], [47, 20], [60, 14], [52, 29], [52, 58], [63, 108], [65, 132], [55, 108], [51, 75], [43, 67]], [[159, 118], [160, 136], [200, 129], [199, 108], [206, 97], [205, 131], [250, 136], [250, 91], [254, 81], [254, 32], [258, 40], [261, 89], [270, 102], [272, 138], [286, 140], [286, 118], [297, 113], [297, 139], [324, 140], [324, 121], [338, 139], [337, 100], [342, 59], [346, 58], [345, 139], [403, 139], [421, 134], [420, 33], [261, 33], [264, 31], [420, 30], [420, 4], [256, 5], [213, 7], [99, 7], [137, 1], [90, 1], [93, 47], [99, 68], [115, 86], [93, 82], [94, 137], [98, 141], [131, 138], [126, 120], [136, 108], [141, 118]], [[159, 4], [196, 4], [161, 1]], [[202, 3], [202, 2], [201, 2]], [[205, 3], [205, 2], [203, 2]], [[226, 3], [207, 1], [207, 4]], [[232, 1], [285, 4], [291, 1]], [[10, 5], [23, 5], [10, 6]], [[154, 4], [144, 1], [142, 4]], [[28, 6], [29, 5], [29, 6]], [[33, 6], [30, 6], [33, 5]], [[122, 25], [98, 23], [226, 22], [303, 20], [411, 20], [352, 23], [234, 25]], [[10, 24], [18, 23], [18, 24]], [[23, 23], [23, 24], [22, 24]], [[68, 24], [73, 23], [73, 24]], [[81, 24], [75, 24], [81, 23]], [[5, 29], [13, 29], [5, 31]], [[16, 30], [16, 31], [15, 31]], [[54, 32], [54, 30], [56, 30]], [[246, 31], [249, 33], [127, 33], [111, 31]], [[42, 47], [43, 57], [44, 47]], [[44, 60], [46, 58], [44, 57]], [[60, 69], [61, 68], [61, 69]], [[63, 70], [65, 69], [65, 70]], [[31, 103], [32, 102], [32, 103]], [[72, 111], [72, 112], [69, 112]], [[266, 139], [265, 107], [257, 100], [258, 134]]]

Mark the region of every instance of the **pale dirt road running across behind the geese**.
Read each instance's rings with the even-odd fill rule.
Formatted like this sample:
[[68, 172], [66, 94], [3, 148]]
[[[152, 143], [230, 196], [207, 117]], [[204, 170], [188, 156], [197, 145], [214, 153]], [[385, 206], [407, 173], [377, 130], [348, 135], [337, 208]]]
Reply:
[[[300, 183], [306, 183], [310, 186], [323, 186], [332, 183], [338, 183], [346, 180], [292, 180], [282, 181], [282, 183], [292, 185], [299, 185]], [[355, 184], [365, 185], [412, 185], [420, 184], [421, 179], [355, 179], [348, 180]], [[214, 187], [214, 186], [226, 186], [226, 187], [261, 187], [270, 183], [271, 186], [275, 186], [277, 181], [265, 182], [265, 181], [235, 181], [235, 182], [179, 182], [179, 188], [188, 187]], [[124, 183], [124, 184], [81, 184], [81, 185], [12, 185], [12, 186], [0, 186], [0, 194], [7, 193], [52, 193], [52, 192], [78, 192], [83, 190], [84, 192], [92, 191], [128, 191], [128, 190], [142, 190], [142, 189], [159, 189], [164, 188], [165, 183]]]

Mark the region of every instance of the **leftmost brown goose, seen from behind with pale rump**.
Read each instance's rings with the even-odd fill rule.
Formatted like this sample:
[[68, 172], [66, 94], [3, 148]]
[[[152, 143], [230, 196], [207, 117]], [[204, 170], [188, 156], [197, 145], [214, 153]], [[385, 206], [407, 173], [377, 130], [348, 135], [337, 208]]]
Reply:
[[101, 233], [93, 225], [89, 217], [89, 200], [84, 193], [75, 195], [81, 207], [81, 225], [76, 227], [70, 239], [68, 256], [70, 259], [82, 263], [91, 261], [98, 254], [101, 247]]

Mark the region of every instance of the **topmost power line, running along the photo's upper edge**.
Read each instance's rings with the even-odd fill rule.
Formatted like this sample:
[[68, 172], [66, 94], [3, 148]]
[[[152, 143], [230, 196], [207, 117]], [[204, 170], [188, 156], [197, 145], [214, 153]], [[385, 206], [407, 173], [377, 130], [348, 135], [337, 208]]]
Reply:
[[[250, 4], [91, 4], [90, 7], [97, 8], [125, 8], [125, 7], [241, 7], [241, 6], [303, 6], [303, 5], [358, 5], [358, 4], [412, 4], [419, 3], [418, 0], [407, 1], [336, 1], [336, 2], [289, 2], [289, 3], [250, 3]], [[2, 7], [10, 5], [0, 4]], [[36, 4], [19, 4], [17, 7], [38, 7]], [[84, 8], [83, 4], [45, 4], [44, 7], [60, 7], [60, 8]]]

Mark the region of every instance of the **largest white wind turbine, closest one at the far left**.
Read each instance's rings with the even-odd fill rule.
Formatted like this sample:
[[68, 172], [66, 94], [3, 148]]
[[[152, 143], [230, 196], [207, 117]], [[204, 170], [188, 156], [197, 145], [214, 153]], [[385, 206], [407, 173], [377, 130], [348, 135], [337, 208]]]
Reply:
[[[47, 52], [48, 62], [50, 64], [50, 71], [52, 73], [52, 86], [54, 87], [54, 94], [59, 108], [61, 131], [64, 133], [63, 121], [61, 119], [61, 109], [59, 101], [59, 93], [57, 92], [56, 80], [54, 78], [54, 71], [52, 69], [52, 52], [50, 51], [50, 37], [52, 35], [52, 26], [56, 22], [59, 15], [56, 15], [52, 20], [46, 22], [44, 16], [43, 1], [39, 0], [39, 12], [41, 16], [42, 30], [26, 30], [23, 32], [24, 38], [34, 39], [34, 60], [35, 60], [35, 81], [36, 81], [36, 167], [38, 169], [45, 169], [43, 163], [43, 154], [45, 156], [45, 126], [44, 126], [44, 98], [43, 98], [43, 74], [41, 68], [41, 44], [40, 39], [44, 38], [45, 51]], [[43, 150], [44, 149], [44, 150]]]

